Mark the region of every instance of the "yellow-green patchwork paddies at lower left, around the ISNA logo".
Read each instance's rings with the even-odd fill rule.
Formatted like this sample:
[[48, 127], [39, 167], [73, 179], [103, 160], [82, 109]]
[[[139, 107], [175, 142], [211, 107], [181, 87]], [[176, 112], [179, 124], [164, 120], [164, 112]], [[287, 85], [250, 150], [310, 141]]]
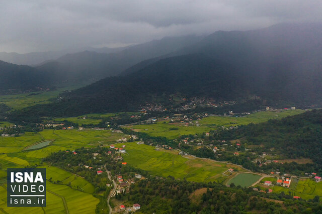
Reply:
[[[123, 136], [125, 135], [110, 130], [45, 129], [19, 137], [1, 137], [0, 151], [3, 154], [0, 154], [0, 213], [95, 213], [99, 199], [92, 195], [94, 186], [81, 176], [54, 166], [41, 165], [41, 158], [59, 150], [111, 144]], [[46, 147], [24, 150], [26, 147], [32, 148], [30, 146], [49, 141], [52, 143], [45, 145]], [[24, 168], [35, 164], [37, 167], [46, 168], [47, 206], [7, 207], [7, 168]], [[49, 179], [59, 181], [60, 184], [53, 184]]]

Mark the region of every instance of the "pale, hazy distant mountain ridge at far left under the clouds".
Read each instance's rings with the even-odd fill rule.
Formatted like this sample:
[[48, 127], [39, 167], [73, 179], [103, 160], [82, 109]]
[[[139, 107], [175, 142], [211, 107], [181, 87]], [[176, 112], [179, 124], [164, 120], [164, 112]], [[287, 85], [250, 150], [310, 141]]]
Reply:
[[69, 50], [63, 50], [63, 51], [48, 51], [48, 52], [33, 52], [33, 53], [27, 53], [27, 54], [18, 54], [15, 52], [7, 53], [7, 52], [0, 52], [0, 60], [17, 64], [17, 65], [39, 65], [43, 64], [47, 61], [56, 60], [59, 57], [62, 57], [68, 53], [78, 53], [83, 51], [91, 51], [91, 52], [97, 52], [97, 53], [115, 53], [124, 50], [127, 47], [121, 47], [121, 48], [92, 48], [92, 47], [86, 47], [86, 48], [75, 48], [75, 49], [69, 49]]

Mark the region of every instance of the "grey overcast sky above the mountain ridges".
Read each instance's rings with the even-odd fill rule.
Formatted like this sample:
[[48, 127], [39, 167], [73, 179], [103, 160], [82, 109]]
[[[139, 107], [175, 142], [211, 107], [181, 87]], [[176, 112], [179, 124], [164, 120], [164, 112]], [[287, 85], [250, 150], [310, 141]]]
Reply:
[[321, 0], [0, 0], [0, 52], [119, 47], [321, 21]]

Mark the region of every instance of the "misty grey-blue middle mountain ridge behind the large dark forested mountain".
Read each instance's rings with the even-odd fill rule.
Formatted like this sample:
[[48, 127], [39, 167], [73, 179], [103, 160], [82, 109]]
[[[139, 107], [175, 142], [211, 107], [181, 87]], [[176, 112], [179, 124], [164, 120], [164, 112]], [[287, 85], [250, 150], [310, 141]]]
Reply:
[[44, 72], [63, 72], [66, 80], [99, 80], [116, 76], [143, 60], [172, 53], [201, 39], [201, 37], [196, 36], [166, 37], [110, 54], [84, 51], [64, 55], [55, 61], [44, 63], [36, 68]]

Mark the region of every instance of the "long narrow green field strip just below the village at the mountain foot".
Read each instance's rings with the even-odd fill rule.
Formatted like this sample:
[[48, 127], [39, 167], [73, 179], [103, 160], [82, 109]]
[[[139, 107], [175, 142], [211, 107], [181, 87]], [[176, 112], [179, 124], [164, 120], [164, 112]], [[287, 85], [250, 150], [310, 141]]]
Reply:
[[202, 118], [199, 121], [199, 126], [196, 126], [196, 121], [193, 121], [194, 125], [184, 126], [181, 123], [169, 123], [169, 121], [158, 121], [155, 124], [148, 125], [132, 125], [124, 126], [123, 128], [134, 129], [135, 131], [145, 132], [151, 136], [162, 136], [169, 139], [175, 139], [180, 135], [198, 134], [203, 132], [209, 132], [221, 126], [237, 126], [247, 125], [250, 123], [261, 123], [268, 121], [269, 119], [278, 119], [291, 115], [303, 113], [304, 110], [283, 110], [276, 111], [262, 111], [256, 112], [243, 117], [233, 116], [210, 116]]

